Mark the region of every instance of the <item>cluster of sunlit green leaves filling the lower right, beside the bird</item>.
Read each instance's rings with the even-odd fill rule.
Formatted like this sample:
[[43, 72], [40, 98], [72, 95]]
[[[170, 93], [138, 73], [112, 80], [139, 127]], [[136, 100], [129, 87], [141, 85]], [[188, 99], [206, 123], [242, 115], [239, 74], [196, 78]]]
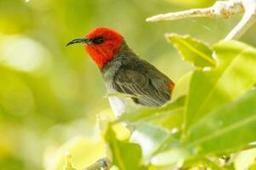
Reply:
[[[189, 81], [183, 78], [189, 83], [187, 94], [161, 108], [141, 108], [126, 113], [114, 123], [125, 122], [133, 127], [131, 144], [141, 145], [144, 163], [151, 168], [204, 166], [239, 169], [241, 158], [226, 163], [219, 160], [232, 153], [241, 155], [248, 144], [256, 141], [256, 88], [253, 88], [256, 49], [242, 42], [229, 41], [214, 44], [212, 53], [208, 53], [211, 49], [194, 38], [173, 34], [170, 38], [183, 54], [183, 59], [198, 66], [189, 74]], [[201, 54], [217, 65], [203, 64]], [[207, 66], [213, 67], [204, 69]], [[177, 86], [179, 84], [183, 83]], [[179, 87], [176, 89], [180, 90]], [[106, 135], [108, 143], [115, 139], [110, 133]], [[127, 163], [119, 166], [113, 161], [119, 169], [137, 164], [129, 161], [129, 157], [120, 156], [129, 154], [127, 150], [116, 153], [114, 148], [119, 147], [118, 142], [109, 144], [113, 160]], [[140, 150], [132, 155], [140, 156]], [[247, 159], [254, 160], [255, 155], [248, 154]], [[249, 161], [246, 168], [252, 163]]]

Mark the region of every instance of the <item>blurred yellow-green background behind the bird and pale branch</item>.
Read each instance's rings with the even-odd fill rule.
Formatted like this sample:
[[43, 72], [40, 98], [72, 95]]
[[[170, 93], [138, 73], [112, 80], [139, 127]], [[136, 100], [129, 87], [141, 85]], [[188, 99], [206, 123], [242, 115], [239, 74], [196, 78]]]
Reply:
[[[111, 27], [177, 82], [192, 67], [164, 34], [190, 34], [211, 44], [224, 38], [241, 15], [159, 23], [145, 19], [212, 3], [0, 0], [0, 170], [61, 169], [67, 150], [81, 167], [104, 155], [101, 139], [95, 138], [96, 114], [109, 111], [102, 76], [82, 46], [66, 48], [67, 42], [96, 27]], [[241, 41], [255, 46], [255, 29]]]

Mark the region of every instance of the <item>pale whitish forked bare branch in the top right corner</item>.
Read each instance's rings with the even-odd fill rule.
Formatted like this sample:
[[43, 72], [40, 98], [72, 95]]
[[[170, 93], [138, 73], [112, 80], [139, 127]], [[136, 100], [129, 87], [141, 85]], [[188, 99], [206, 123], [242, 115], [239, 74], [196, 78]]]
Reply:
[[209, 8], [194, 8], [176, 13], [158, 14], [147, 19], [148, 22], [160, 20], [179, 20], [195, 17], [222, 17], [230, 18], [235, 14], [244, 13], [241, 21], [230, 31], [225, 40], [238, 39], [256, 20], [256, 0], [229, 0], [218, 1]]

